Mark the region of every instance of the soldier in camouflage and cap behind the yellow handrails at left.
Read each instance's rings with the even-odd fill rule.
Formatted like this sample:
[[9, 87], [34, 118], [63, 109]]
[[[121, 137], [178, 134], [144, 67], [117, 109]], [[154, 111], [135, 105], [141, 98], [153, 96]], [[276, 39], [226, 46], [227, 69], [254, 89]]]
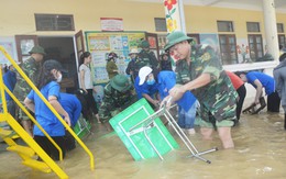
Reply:
[[[34, 46], [30, 52], [31, 57], [26, 59], [21, 65], [21, 69], [24, 71], [24, 74], [30, 78], [30, 80], [35, 83], [37, 80], [37, 77], [40, 75], [40, 67], [41, 61], [44, 58], [44, 55], [46, 55], [44, 48], [42, 46]], [[15, 98], [23, 104], [23, 101], [28, 93], [31, 91], [31, 87], [28, 85], [28, 82], [24, 80], [24, 78], [18, 74], [16, 77], [16, 83], [15, 88], [13, 90], [13, 94]], [[18, 120], [21, 121], [24, 130], [31, 135], [32, 134], [32, 123], [29, 119], [29, 116], [20, 109], [18, 108]]]

